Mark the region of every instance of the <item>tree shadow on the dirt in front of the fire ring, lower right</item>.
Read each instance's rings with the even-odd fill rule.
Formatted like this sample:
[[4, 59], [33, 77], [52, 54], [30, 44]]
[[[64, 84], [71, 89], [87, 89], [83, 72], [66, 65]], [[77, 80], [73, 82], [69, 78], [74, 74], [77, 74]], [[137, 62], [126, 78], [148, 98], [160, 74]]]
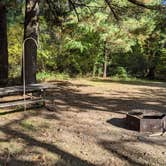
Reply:
[[[144, 142], [144, 141], [142, 141]], [[139, 143], [138, 140], [117, 140], [117, 141], [107, 141], [102, 140], [99, 144], [105, 148], [107, 151], [113, 153], [115, 156], [126, 160], [129, 165], [135, 166], [145, 166], [149, 165], [149, 161], [153, 163], [153, 165], [163, 165], [163, 161], [156, 162], [154, 156], [149, 155], [147, 152], [142, 152], [140, 149], [134, 147], [133, 145]], [[145, 142], [147, 144], [154, 144], [150, 143], [149, 141]], [[146, 156], [146, 160], [144, 159]]]

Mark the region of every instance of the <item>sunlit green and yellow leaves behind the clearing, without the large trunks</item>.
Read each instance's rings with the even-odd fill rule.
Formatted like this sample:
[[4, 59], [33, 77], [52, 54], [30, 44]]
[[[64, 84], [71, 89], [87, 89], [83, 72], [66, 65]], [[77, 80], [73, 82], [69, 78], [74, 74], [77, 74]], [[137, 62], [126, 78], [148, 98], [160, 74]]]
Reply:
[[[120, 16], [117, 21], [103, 0], [86, 2], [90, 8], [77, 8], [79, 22], [74, 12], [64, 13], [66, 9], [62, 4], [63, 11], [51, 22], [55, 18], [49, 8], [41, 6], [38, 80], [102, 76], [106, 54], [108, 76], [146, 77], [154, 69], [154, 77], [166, 79], [164, 14], [136, 8], [126, 0], [113, 0]], [[21, 75], [23, 26], [20, 23], [24, 2], [20, 1], [17, 8], [12, 6], [8, 12], [10, 77], [18, 77]]]

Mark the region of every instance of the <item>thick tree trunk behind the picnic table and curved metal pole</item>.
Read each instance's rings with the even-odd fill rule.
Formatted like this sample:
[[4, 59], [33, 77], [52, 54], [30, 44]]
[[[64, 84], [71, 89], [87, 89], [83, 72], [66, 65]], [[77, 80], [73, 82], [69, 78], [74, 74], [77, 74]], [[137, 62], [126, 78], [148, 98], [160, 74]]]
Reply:
[[36, 83], [39, 0], [26, 0], [24, 22], [25, 82]]

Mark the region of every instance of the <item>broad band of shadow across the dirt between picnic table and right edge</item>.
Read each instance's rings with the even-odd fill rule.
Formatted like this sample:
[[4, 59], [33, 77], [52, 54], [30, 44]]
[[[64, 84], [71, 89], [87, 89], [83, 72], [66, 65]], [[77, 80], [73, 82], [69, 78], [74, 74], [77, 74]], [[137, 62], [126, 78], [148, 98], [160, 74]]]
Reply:
[[[54, 103], [57, 110], [61, 108], [74, 107], [80, 111], [108, 111], [115, 113], [126, 113], [133, 109], [151, 110], [157, 112], [165, 112], [166, 109], [166, 91], [162, 89], [141, 89], [135, 94], [135, 97], [105, 97], [103, 95], [94, 95], [94, 93], [81, 93], [69, 84], [58, 84], [56, 88], [47, 92], [47, 99]], [[119, 96], [121, 92], [117, 91]], [[124, 93], [124, 92], [123, 92]], [[137, 97], [137, 95], [143, 97]], [[111, 95], [111, 94], [110, 94]], [[127, 93], [126, 93], [127, 95]], [[150, 97], [153, 95], [154, 98]], [[157, 104], [155, 96], [157, 99]]]

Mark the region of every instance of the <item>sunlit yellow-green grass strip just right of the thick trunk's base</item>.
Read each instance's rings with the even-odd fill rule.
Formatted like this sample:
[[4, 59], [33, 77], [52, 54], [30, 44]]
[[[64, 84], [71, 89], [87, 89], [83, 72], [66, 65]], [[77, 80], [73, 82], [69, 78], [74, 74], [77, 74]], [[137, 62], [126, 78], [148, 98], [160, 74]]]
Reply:
[[70, 76], [66, 73], [40, 72], [37, 74], [38, 81], [68, 80]]

